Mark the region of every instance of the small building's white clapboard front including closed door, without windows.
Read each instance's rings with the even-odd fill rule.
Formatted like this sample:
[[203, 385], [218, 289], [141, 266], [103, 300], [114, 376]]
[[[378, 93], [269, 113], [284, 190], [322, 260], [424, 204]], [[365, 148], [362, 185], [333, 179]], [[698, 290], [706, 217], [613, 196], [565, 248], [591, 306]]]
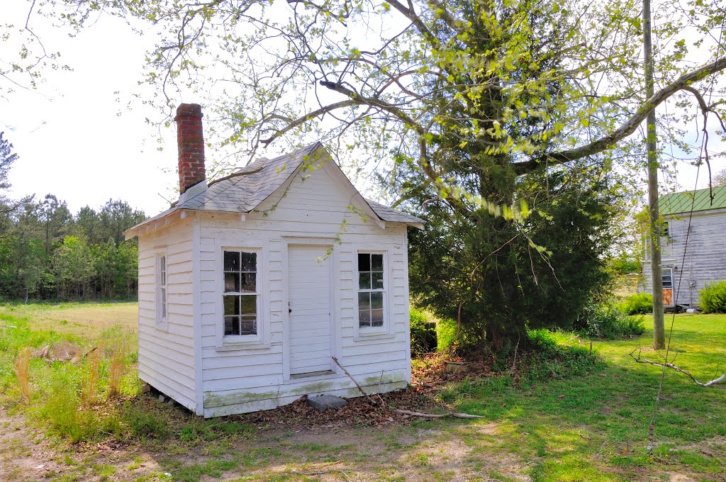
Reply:
[[[352, 213], [350, 204], [351, 193], [325, 169], [317, 169], [305, 181], [295, 177], [244, 220], [227, 213], [200, 213], [203, 391], [205, 396], [217, 395], [213, 404], [226, 403], [221, 401], [225, 396], [234, 400], [234, 393], [272, 393], [271, 386], [275, 388], [274, 396], [282, 400], [285, 393], [299, 391], [303, 395], [304, 387], [326, 383], [323, 379], [306, 382], [305, 378], [293, 378], [280, 385], [286, 356], [288, 375], [330, 370], [335, 368], [331, 356], [338, 356], [351, 373], [377, 373], [380, 377], [384, 370], [397, 374], [404, 382], [410, 380], [406, 227], [394, 223], [381, 226], [370, 217]], [[311, 238], [316, 237], [325, 239], [315, 245]], [[340, 242], [333, 242], [336, 238]], [[295, 244], [296, 239], [306, 239], [306, 245]], [[269, 346], [220, 350], [216, 347], [216, 333], [221, 329], [221, 314], [216, 312], [217, 298], [221, 296], [216, 292], [221, 276], [219, 246], [244, 247], [245, 243], [266, 246], [266, 259], [261, 259], [258, 270], [266, 274], [263, 310], [268, 316]], [[327, 258], [322, 245], [331, 243], [335, 254]], [[354, 270], [356, 250], [361, 247], [388, 252], [386, 308], [391, 334], [385, 339], [354, 340]], [[309, 256], [298, 256], [302, 253]], [[322, 266], [317, 264], [319, 257], [325, 258]], [[323, 271], [327, 279], [317, 274]], [[287, 301], [291, 314], [287, 313]], [[337, 330], [331, 327], [331, 317], [338, 324]], [[289, 324], [287, 346], [283, 320]], [[333, 339], [335, 336], [338, 340]], [[350, 380], [345, 375], [331, 376], [338, 380], [333, 384], [335, 389], [347, 389]], [[382, 388], [386, 389], [390, 388]], [[255, 407], [271, 407], [265, 403]], [[206, 415], [212, 412], [205, 408]]]

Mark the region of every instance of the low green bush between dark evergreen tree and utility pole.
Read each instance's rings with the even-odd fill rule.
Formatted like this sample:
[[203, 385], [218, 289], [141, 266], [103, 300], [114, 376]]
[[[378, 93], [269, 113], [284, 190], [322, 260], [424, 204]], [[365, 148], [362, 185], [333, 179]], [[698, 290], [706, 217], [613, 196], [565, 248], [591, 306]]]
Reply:
[[576, 328], [588, 338], [614, 340], [645, 331], [643, 316], [628, 316], [611, 298], [589, 301], [582, 310]]

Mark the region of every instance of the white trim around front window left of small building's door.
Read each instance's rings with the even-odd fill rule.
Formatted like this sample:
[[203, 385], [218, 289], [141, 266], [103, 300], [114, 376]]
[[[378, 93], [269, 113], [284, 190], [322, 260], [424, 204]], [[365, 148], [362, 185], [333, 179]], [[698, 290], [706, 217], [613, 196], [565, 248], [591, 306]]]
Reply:
[[[224, 335], [224, 251], [245, 251], [257, 254], [257, 333], [256, 335]], [[268, 306], [268, 249], [264, 242], [217, 239], [214, 264], [214, 332], [218, 351], [270, 348]]]

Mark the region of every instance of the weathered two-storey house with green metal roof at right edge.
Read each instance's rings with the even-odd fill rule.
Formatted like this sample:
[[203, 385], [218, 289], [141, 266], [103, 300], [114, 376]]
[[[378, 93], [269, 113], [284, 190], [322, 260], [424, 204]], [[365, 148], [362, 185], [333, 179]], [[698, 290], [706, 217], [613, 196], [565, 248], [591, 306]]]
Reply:
[[[663, 195], [658, 209], [665, 223], [661, 237], [664, 306], [696, 307], [698, 291], [706, 283], [726, 279], [726, 187]], [[650, 293], [647, 249], [643, 276], [643, 291]]]

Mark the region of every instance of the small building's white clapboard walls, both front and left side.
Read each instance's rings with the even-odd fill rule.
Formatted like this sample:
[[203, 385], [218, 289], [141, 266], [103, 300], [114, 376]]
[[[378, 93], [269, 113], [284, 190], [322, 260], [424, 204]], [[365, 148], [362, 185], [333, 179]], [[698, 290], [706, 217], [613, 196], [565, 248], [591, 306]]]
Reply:
[[[410, 382], [407, 228], [365, 205], [351, 210], [358, 197], [336, 170], [328, 164], [292, 176], [243, 216], [187, 211], [139, 235], [142, 380], [205, 417], [308, 394], [359, 396], [333, 356], [369, 391]], [[236, 345], [222, 336], [224, 248], [260, 253], [259, 336]], [[375, 336], [355, 326], [358, 250], [386, 253], [388, 331]], [[165, 324], [156, 320], [159, 253], [167, 256]]]

